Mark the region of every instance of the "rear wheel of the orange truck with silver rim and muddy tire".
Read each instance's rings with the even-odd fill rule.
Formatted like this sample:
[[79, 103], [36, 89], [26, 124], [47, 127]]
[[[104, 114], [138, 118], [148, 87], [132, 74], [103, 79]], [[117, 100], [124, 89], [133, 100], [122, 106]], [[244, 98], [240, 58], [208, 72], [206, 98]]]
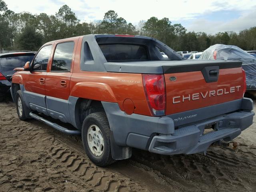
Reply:
[[[94, 164], [107, 166], [116, 161], [111, 154], [110, 128], [105, 112], [95, 112], [84, 119], [82, 141], [87, 156]], [[99, 144], [98, 147], [96, 144]]]

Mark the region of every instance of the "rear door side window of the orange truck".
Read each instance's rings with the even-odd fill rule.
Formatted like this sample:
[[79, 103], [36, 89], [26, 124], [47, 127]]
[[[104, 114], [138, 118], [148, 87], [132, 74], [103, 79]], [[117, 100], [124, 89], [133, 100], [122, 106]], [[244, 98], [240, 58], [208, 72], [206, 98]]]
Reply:
[[70, 71], [74, 42], [57, 44], [52, 61], [51, 71]]

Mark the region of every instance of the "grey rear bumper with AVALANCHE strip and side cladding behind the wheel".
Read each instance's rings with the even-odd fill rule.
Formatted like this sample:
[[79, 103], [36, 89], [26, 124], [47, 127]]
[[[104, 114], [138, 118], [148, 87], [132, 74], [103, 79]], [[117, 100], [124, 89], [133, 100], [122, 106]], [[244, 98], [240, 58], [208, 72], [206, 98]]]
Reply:
[[[178, 114], [198, 114], [182, 121], [174, 121], [176, 116], [128, 115], [116, 103], [102, 105], [116, 145], [166, 155], [202, 152], [218, 140], [232, 140], [252, 124], [254, 116], [253, 102], [248, 98]], [[206, 124], [212, 123], [216, 131], [203, 135]]]

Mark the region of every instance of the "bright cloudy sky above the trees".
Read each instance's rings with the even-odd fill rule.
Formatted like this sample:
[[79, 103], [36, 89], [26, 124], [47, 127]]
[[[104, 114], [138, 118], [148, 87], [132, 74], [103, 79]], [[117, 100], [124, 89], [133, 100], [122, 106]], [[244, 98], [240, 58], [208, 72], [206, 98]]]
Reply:
[[55, 14], [67, 4], [83, 22], [102, 20], [114, 10], [119, 17], [137, 25], [155, 16], [180, 23], [188, 31], [239, 32], [256, 26], [256, 0], [4, 0], [14, 12]]

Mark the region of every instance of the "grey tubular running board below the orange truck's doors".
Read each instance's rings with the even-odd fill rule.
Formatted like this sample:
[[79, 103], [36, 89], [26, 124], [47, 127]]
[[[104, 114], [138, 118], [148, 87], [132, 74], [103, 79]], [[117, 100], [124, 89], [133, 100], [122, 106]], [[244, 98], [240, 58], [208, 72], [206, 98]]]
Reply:
[[40, 122], [43, 122], [46, 125], [51, 126], [52, 128], [54, 128], [56, 130], [59, 130], [59, 131], [61, 131], [63, 133], [66, 133], [66, 134], [69, 134], [69, 135], [80, 135], [81, 134], [81, 131], [79, 131], [79, 130], [70, 130], [70, 129], [64, 128], [64, 127], [62, 127], [62, 126], [60, 126], [60, 125], [58, 125], [56, 123], [50, 122], [50, 121], [46, 120], [45, 118], [42, 118], [42, 117], [34, 114], [33, 112], [30, 112], [29, 115], [32, 118], [34, 118], [34, 119], [36, 119], [36, 120], [38, 120]]

